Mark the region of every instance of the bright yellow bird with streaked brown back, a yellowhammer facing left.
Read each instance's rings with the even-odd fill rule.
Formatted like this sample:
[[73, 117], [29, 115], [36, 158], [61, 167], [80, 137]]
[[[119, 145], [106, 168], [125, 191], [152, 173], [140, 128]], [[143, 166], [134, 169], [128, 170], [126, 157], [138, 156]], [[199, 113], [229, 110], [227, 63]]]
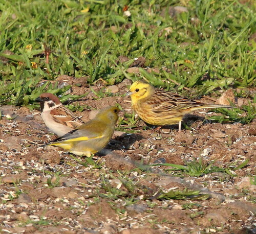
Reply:
[[183, 98], [175, 93], [155, 89], [144, 80], [135, 81], [126, 95], [131, 96], [132, 106], [144, 122], [159, 126], [179, 123], [179, 132], [183, 116], [191, 111], [201, 108], [234, 108]]

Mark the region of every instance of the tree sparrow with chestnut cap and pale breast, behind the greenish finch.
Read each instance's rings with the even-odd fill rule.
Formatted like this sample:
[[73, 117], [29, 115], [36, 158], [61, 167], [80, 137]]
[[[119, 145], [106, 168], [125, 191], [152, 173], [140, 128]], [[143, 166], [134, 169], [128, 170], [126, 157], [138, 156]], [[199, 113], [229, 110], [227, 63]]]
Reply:
[[36, 101], [40, 103], [42, 120], [59, 137], [84, 124], [52, 93], [42, 93]]

